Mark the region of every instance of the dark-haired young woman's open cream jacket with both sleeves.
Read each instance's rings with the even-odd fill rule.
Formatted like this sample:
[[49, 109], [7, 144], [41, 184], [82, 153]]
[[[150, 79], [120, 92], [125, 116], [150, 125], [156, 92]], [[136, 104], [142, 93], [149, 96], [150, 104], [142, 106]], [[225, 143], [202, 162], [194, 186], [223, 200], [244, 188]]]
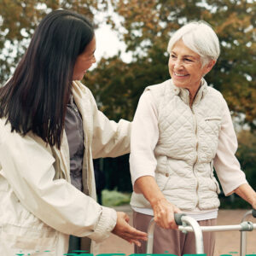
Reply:
[[92, 159], [129, 153], [131, 123], [109, 121], [78, 81], [73, 97], [84, 121], [83, 183], [90, 196], [70, 183], [65, 132], [58, 150], [31, 132], [11, 132], [0, 119], [0, 255], [60, 256], [69, 235], [99, 242], [116, 224], [116, 212], [96, 203]]

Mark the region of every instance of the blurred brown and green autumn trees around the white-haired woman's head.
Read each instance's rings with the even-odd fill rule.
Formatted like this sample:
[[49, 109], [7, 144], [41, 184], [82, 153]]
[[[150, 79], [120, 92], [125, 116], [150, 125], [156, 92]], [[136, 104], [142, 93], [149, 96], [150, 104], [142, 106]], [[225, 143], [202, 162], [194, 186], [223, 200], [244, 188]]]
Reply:
[[[206, 20], [218, 33], [221, 55], [208, 84], [220, 90], [234, 116], [256, 128], [256, 2], [246, 0], [111, 0], [119, 30], [133, 60], [102, 60], [86, 84], [113, 118], [132, 119], [145, 86], [169, 78], [166, 46], [172, 32], [190, 20]], [[93, 79], [91, 79], [93, 78]], [[108, 100], [109, 99], [109, 100]], [[128, 109], [127, 109], [128, 108]]]

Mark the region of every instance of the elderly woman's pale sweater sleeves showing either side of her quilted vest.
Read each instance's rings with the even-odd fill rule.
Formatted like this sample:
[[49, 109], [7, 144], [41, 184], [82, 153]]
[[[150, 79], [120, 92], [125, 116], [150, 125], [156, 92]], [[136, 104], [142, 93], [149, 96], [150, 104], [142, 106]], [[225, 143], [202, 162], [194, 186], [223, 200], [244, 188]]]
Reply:
[[[206, 83], [204, 80], [203, 82]], [[170, 80], [166, 83], [170, 83]], [[156, 86], [160, 86], [160, 84]], [[209, 89], [213, 90], [212, 88]], [[178, 88], [177, 90], [180, 91]], [[182, 90], [182, 92], [184, 93], [185, 90]], [[185, 97], [183, 101], [185, 101]], [[237, 148], [236, 133], [230, 118], [229, 108], [224, 99], [220, 103], [222, 105], [222, 116], [217, 137], [218, 147], [216, 146], [217, 151], [214, 154], [215, 157], [213, 157], [213, 164], [224, 189], [224, 194], [230, 195], [234, 189], [242, 183], [247, 183], [247, 181], [235, 156]], [[130, 164], [133, 184], [138, 177], [146, 175], [155, 177], [157, 166], [155, 148], [160, 140], [158, 104], [159, 102], [153, 96], [152, 90], [146, 90], [137, 107], [131, 132]], [[132, 198], [134, 197], [136, 196]], [[136, 200], [131, 200], [131, 206], [138, 206]], [[198, 209], [195, 208], [194, 211], [196, 210]]]

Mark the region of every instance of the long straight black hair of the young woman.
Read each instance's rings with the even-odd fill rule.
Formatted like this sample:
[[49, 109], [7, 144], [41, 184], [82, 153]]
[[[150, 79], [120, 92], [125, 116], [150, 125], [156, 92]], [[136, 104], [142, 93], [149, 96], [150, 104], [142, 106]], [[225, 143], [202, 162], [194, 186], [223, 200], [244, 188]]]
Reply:
[[55, 10], [44, 17], [13, 77], [0, 89], [0, 118], [12, 131], [32, 131], [61, 147], [73, 67], [93, 37], [93, 26], [82, 15]]

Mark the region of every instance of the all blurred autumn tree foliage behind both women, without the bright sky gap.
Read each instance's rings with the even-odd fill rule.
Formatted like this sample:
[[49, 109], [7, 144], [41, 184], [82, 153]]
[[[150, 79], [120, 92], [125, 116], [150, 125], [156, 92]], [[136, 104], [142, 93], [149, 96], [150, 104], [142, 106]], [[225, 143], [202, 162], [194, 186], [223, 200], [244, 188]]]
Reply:
[[[84, 80], [109, 118], [133, 118], [144, 88], [169, 79], [166, 47], [172, 32], [187, 21], [206, 20], [218, 33], [221, 44], [221, 55], [207, 82], [224, 94], [233, 116], [242, 117], [241, 124], [250, 125], [252, 131], [256, 128], [256, 2], [251, 0], [0, 0], [0, 84], [9, 78], [38, 20], [49, 11], [73, 9], [93, 20], [96, 10], [107, 10], [109, 4], [123, 28], [117, 26], [114, 15], [108, 17], [108, 23], [125, 41], [132, 61], [125, 63], [120, 53], [102, 58]], [[241, 163], [247, 149], [238, 153]], [[118, 179], [110, 187], [127, 179], [123, 187], [129, 188], [125, 158], [116, 161], [125, 163], [119, 165], [124, 165], [127, 176], [124, 172], [115, 176]], [[113, 182], [111, 179], [113, 175], [108, 176], [108, 183]]]

